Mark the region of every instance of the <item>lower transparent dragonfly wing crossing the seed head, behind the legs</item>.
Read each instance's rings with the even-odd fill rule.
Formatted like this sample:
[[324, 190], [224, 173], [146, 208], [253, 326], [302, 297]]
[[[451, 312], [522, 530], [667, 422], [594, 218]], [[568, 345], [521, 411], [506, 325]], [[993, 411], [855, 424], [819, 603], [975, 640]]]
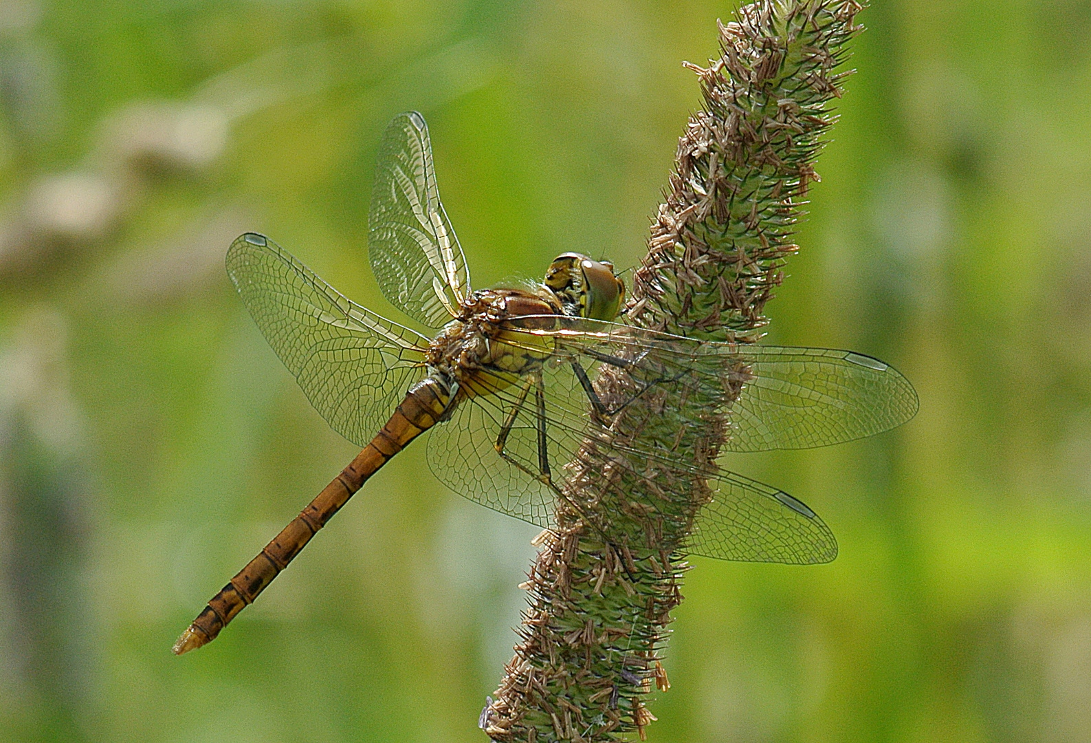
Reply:
[[[634, 478], [655, 479], [649, 490], [661, 489], [664, 471], [675, 478], [671, 490], [680, 495], [698, 481], [707, 482], [712, 501], [700, 512], [687, 546], [694, 554], [781, 563], [819, 563], [836, 556], [834, 535], [800, 501], [715, 465], [698, 468], [673, 451], [621, 443], [589, 415], [589, 398], [570, 363], [547, 362], [542, 372], [540, 409], [532, 380], [518, 379], [505, 387], [500, 375], [493, 375], [484, 383], [503, 388], [464, 402], [451, 421], [431, 430], [429, 463], [442, 482], [471, 501], [546, 527], [556, 495], [539, 479], [543, 458], [554, 482], [561, 482], [568, 475], [565, 465], [579, 456], [586, 440], [594, 440], [612, 467], [626, 467]], [[507, 458], [495, 446], [505, 428]]]

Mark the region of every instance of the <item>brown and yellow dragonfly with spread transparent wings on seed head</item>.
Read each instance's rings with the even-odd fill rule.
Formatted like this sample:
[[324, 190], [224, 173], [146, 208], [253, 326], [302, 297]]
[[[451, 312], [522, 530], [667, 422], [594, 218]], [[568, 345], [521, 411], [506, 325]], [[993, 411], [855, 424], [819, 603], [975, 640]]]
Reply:
[[[383, 136], [369, 215], [383, 295], [425, 335], [338, 292], [273, 240], [240, 236], [227, 273], [273, 350], [329, 426], [362, 447], [322, 492], [213, 597], [173, 646], [214, 639], [385, 463], [428, 434], [431, 470], [466, 498], [549, 528], [565, 464], [594, 438], [608, 455], [699, 477], [711, 492], [685, 549], [709, 558], [824, 563], [837, 541], [802, 501], [685, 452], [612, 443], [603, 369], [643, 380], [634, 397], [721, 390], [723, 448], [808, 448], [870, 436], [915, 415], [912, 385], [862, 353], [709, 343], [618, 322], [624, 281], [606, 261], [558, 256], [537, 284], [475, 290], [440, 201], [423, 117]], [[631, 402], [631, 400], [630, 400]], [[611, 448], [613, 447], [613, 448]], [[577, 504], [578, 510], [578, 504]]]

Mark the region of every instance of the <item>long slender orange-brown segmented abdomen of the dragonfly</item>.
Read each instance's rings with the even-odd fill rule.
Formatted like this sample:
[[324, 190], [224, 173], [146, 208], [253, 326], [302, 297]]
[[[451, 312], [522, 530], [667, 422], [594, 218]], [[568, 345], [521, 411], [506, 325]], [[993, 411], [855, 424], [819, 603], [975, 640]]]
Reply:
[[449, 400], [449, 387], [440, 380], [429, 378], [415, 384], [371, 443], [208, 601], [175, 643], [175, 655], [180, 656], [215, 639], [273, 583], [368, 478], [441, 419]]

